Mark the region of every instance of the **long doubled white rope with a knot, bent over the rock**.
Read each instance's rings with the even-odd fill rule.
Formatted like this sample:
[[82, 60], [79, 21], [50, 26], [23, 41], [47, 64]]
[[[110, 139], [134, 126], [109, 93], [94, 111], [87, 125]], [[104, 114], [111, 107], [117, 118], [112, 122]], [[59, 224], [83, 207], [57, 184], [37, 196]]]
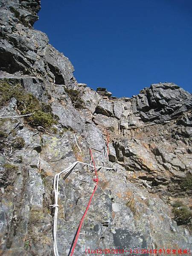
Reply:
[[[54, 183], [53, 184], [54, 184], [54, 193], [55, 193], [55, 204], [51, 204], [50, 206], [55, 208], [54, 222], [53, 222], [53, 250], [54, 250], [54, 255], [55, 256], [59, 256], [58, 248], [57, 248], [57, 218], [58, 218], [58, 207], [59, 207], [59, 205], [58, 205], [59, 176], [63, 173], [70, 172], [78, 163], [94, 167], [93, 165], [91, 165], [89, 163], [83, 163], [83, 162], [80, 162], [80, 161], [76, 161], [75, 163], [73, 163], [72, 165], [70, 165], [69, 167], [64, 169], [63, 171], [57, 173], [54, 177]], [[96, 169], [99, 169], [99, 168], [104, 168], [104, 169], [108, 169], [108, 170], [113, 169], [113, 168], [108, 168], [108, 167], [104, 167], [104, 166], [96, 166]]]

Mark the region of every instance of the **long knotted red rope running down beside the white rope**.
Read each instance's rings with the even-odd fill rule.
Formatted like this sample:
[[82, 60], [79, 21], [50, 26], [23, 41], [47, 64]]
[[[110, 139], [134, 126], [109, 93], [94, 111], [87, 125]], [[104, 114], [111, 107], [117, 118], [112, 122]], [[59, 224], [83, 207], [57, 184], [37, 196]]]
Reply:
[[83, 221], [84, 221], [84, 217], [85, 217], [86, 214], [87, 214], [87, 211], [88, 211], [88, 209], [89, 209], [89, 207], [90, 207], [90, 204], [91, 204], [93, 195], [94, 195], [95, 192], [96, 192], [97, 185], [98, 185], [98, 182], [99, 182], [98, 175], [97, 175], [97, 170], [96, 170], [96, 166], [95, 166], [95, 161], [93, 160], [93, 154], [92, 154], [91, 149], [90, 149], [90, 156], [91, 156], [91, 159], [92, 159], [92, 161], [93, 161], [93, 166], [94, 166], [94, 169], [95, 169], [95, 176], [96, 176], [96, 179], [93, 179], [93, 181], [96, 182], [96, 185], [95, 185], [95, 187], [94, 187], [94, 189], [93, 189], [93, 193], [92, 193], [92, 195], [91, 195], [91, 197], [90, 197], [90, 199], [89, 199], [89, 203], [88, 203], [88, 205], [87, 205], [87, 208], [86, 208], [86, 210], [84, 211], [83, 217], [81, 218], [81, 221], [80, 221], [80, 223], [79, 223], [79, 227], [78, 227], [78, 230], [77, 230], [76, 238], [75, 238], [75, 241], [74, 241], [73, 248], [72, 248], [72, 250], [71, 250], [70, 256], [73, 256], [73, 252], [74, 252], [74, 250], [75, 250], [75, 247], [76, 247], [76, 244], [77, 244], [77, 241], [78, 241], [78, 238], [79, 238], [79, 233], [80, 233], [80, 230], [81, 230], [81, 226], [82, 226], [82, 224], [83, 224]]

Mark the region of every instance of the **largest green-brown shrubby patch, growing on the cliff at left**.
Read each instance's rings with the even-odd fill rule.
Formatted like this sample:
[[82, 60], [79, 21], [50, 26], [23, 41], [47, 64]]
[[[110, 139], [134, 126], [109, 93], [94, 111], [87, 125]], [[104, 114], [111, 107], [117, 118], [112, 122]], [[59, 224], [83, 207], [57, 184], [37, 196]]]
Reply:
[[34, 113], [24, 117], [32, 127], [48, 128], [57, 123], [59, 117], [51, 113], [50, 105], [40, 103], [31, 93], [25, 93], [20, 84], [13, 86], [7, 81], [0, 81], [0, 106], [4, 106], [12, 97], [17, 99], [17, 109], [21, 114]]

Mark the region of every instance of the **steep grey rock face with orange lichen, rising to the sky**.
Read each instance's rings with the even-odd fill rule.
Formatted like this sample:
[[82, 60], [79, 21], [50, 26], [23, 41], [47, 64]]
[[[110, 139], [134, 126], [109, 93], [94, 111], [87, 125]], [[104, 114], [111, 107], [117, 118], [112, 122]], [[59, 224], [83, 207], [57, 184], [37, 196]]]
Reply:
[[[96, 165], [113, 169], [99, 170], [74, 255], [86, 248], [189, 250], [192, 95], [159, 83], [117, 99], [79, 84], [68, 58], [32, 28], [39, 9], [39, 0], [0, 2], [0, 116], [25, 113], [33, 96], [44, 111], [34, 123], [0, 118], [0, 254], [53, 255], [54, 175], [76, 160], [90, 163], [89, 148]], [[25, 99], [10, 94], [15, 84]], [[50, 115], [56, 125], [41, 125]], [[93, 191], [91, 171], [78, 165], [61, 176], [59, 255], [68, 255]]]

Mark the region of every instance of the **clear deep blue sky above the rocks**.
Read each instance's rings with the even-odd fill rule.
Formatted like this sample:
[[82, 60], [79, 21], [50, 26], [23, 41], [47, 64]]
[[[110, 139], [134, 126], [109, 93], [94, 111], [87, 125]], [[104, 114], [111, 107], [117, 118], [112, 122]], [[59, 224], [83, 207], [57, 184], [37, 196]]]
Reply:
[[192, 0], [41, 0], [39, 16], [79, 83], [118, 97], [164, 81], [192, 92]]

